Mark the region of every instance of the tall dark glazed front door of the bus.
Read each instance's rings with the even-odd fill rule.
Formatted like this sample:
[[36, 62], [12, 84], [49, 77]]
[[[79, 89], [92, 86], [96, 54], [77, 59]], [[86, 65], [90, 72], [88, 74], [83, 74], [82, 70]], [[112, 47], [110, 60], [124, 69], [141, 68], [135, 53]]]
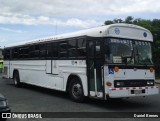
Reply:
[[87, 74], [88, 74], [88, 94], [90, 97], [104, 97], [103, 82], [103, 59], [101, 41], [87, 41]]

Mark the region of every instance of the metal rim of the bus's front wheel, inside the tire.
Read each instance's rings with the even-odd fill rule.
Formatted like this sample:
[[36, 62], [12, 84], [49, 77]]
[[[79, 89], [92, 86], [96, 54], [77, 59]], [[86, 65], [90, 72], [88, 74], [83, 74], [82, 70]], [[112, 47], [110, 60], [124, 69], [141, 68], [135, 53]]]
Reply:
[[75, 83], [72, 87], [72, 95], [79, 98], [82, 95], [82, 87], [79, 83]]

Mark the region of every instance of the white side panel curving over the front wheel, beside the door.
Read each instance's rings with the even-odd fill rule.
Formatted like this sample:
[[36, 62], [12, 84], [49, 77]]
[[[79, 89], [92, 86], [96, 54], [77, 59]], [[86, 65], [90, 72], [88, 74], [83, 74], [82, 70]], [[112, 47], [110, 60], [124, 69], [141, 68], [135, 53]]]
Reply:
[[80, 78], [84, 90], [84, 95], [88, 96], [87, 73], [85, 60], [59, 60], [57, 62], [59, 74], [64, 78], [64, 90], [66, 90], [67, 80], [70, 75]]

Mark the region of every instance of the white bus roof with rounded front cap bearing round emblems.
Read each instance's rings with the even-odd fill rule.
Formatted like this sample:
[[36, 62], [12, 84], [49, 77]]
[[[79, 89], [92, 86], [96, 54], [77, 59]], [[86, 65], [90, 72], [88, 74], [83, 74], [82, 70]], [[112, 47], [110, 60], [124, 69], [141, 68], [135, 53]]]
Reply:
[[49, 36], [49, 37], [40, 38], [40, 39], [33, 39], [30, 41], [10, 44], [10, 45], [7, 45], [6, 47], [28, 45], [28, 44], [34, 44], [39, 42], [54, 41], [59, 39], [80, 37], [80, 36], [117, 37], [117, 38], [127, 38], [127, 39], [135, 39], [135, 40], [153, 41], [153, 36], [149, 30], [133, 24], [118, 23], [118, 24], [111, 24], [111, 25], [105, 25], [105, 26], [100, 26], [96, 28], [81, 30], [78, 32], [72, 32], [72, 33], [61, 34], [56, 36]]

